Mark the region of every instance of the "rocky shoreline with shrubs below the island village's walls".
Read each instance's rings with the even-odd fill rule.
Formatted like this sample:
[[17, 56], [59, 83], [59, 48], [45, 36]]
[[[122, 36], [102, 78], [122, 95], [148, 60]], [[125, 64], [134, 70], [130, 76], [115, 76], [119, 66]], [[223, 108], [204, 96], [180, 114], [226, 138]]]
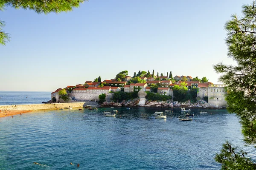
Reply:
[[[204, 100], [199, 100], [195, 103], [190, 101], [187, 102], [166, 102], [166, 101], [148, 101], [145, 100], [145, 105], [138, 105], [140, 99], [133, 99], [128, 101], [122, 101], [121, 103], [115, 102], [104, 102], [102, 104], [103, 107], [122, 107], [122, 106], [130, 106], [130, 107], [158, 107], [158, 108], [213, 108], [216, 107], [210, 105], [209, 103], [205, 102]], [[218, 107], [218, 108], [226, 108], [226, 107]]]

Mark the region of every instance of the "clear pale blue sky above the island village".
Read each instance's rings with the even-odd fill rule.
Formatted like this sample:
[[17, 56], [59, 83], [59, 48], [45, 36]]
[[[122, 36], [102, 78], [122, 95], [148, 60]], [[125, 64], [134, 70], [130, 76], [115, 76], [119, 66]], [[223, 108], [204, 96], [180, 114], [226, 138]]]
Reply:
[[71, 12], [6, 7], [0, 91], [55, 91], [127, 70], [207, 77], [227, 57], [224, 23], [251, 0], [89, 0]]

